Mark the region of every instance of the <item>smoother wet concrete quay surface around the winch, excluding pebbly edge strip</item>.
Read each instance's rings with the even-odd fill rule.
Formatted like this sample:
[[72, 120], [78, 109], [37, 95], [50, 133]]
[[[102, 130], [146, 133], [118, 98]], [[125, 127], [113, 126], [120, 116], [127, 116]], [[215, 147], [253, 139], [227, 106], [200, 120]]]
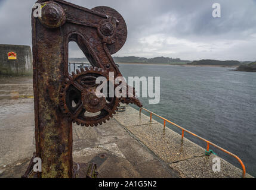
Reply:
[[[0, 80], [0, 178], [20, 178], [35, 151], [32, 80], [20, 81]], [[97, 128], [74, 124], [73, 161], [97, 163], [98, 178], [179, 177], [115, 119]]]

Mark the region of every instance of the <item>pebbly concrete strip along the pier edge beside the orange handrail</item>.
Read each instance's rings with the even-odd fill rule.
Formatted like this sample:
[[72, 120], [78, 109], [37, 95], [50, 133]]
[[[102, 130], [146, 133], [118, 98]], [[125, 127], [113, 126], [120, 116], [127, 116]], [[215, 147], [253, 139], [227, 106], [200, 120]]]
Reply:
[[[154, 120], [150, 123], [148, 116], [141, 114], [140, 117], [138, 111], [132, 107], [127, 107], [126, 113], [118, 113], [114, 118], [159, 159], [177, 171], [181, 178], [242, 177], [241, 169], [214, 154], [206, 156], [205, 148], [187, 140], [187, 138], [181, 141], [181, 135], [169, 128], [164, 129], [164, 125]], [[131, 120], [135, 122], [128, 122]], [[212, 170], [214, 164], [212, 159], [214, 158], [220, 159], [220, 172]], [[252, 176], [246, 174], [246, 178], [252, 178]]]

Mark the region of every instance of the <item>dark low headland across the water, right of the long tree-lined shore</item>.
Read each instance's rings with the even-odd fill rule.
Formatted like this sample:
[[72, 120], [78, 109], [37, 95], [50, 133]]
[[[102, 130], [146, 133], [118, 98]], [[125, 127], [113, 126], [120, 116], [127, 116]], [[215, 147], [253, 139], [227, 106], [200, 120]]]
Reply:
[[219, 60], [212, 60], [212, 59], [202, 59], [199, 61], [193, 61], [188, 63], [187, 65], [223, 65], [223, 66], [238, 66], [241, 65], [239, 61], [219, 61]]

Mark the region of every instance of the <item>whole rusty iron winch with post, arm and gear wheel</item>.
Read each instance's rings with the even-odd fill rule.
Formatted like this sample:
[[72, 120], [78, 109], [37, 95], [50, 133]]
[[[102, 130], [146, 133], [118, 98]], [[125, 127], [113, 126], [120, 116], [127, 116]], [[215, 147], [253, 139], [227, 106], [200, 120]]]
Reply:
[[[97, 77], [106, 77], [111, 83], [109, 72], [115, 78], [122, 76], [111, 55], [124, 46], [127, 26], [109, 7], [87, 9], [61, 0], [37, 3], [41, 16], [32, 13], [32, 39], [35, 157], [42, 159], [38, 177], [72, 178], [72, 122], [101, 125], [115, 114], [119, 102], [141, 107], [131, 96], [95, 96]], [[78, 44], [90, 68], [69, 74], [69, 42]]]

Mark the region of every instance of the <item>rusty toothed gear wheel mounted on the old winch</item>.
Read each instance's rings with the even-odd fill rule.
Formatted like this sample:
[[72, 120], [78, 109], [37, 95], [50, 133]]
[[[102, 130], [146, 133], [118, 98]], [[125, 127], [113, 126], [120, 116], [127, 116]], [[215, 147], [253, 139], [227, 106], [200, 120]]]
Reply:
[[[60, 90], [60, 109], [72, 121], [82, 126], [97, 126], [106, 123], [118, 110], [117, 97], [98, 97], [96, 84], [98, 77], [105, 77], [108, 95], [110, 85], [109, 73], [101, 68], [92, 67], [76, 69], [68, 75]], [[114, 85], [115, 87], [115, 85]], [[104, 89], [104, 88], [103, 88]], [[101, 92], [102, 93], [102, 92]]]

